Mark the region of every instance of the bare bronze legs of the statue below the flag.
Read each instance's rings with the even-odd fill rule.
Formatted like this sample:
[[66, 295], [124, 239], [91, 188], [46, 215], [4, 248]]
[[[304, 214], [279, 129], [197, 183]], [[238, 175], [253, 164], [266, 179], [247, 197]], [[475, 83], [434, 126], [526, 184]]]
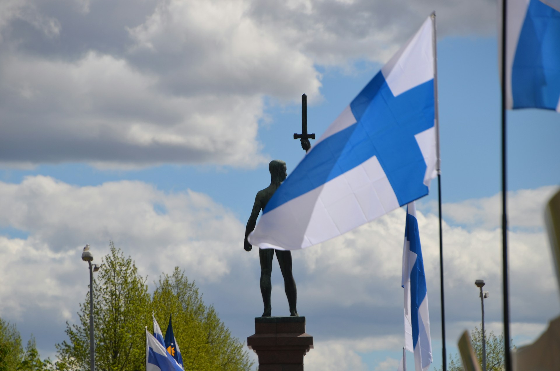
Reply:
[[[270, 275], [272, 273], [272, 259], [274, 257], [274, 249], [259, 249], [260, 258], [260, 292], [263, 295], [264, 312], [262, 317], [270, 317], [272, 308], [270, 307], [270, 293], [272, 284], [270, 284]], [[292, 274], [292, 253], [290, 251], [276, 250], [276, 258], [284, 277], [284, 290], [290, 305], [290, 316], [298, 316], [296, 309], [297, 289], [296, 281]]]

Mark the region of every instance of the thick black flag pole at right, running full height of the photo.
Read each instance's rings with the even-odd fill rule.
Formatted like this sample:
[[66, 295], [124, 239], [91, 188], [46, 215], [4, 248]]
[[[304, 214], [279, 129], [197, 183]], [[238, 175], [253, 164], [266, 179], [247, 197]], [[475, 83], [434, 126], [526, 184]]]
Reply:
[[[502, 0], [502, 283], [503, 283], [503, 342], [506, 371], [512, 370], [510, 354], [510, 299], [507, 279], [507, 148], [506, 148], [506, 21], [507, 0]], [[484, 370], [486, 371], [486, 370]]]

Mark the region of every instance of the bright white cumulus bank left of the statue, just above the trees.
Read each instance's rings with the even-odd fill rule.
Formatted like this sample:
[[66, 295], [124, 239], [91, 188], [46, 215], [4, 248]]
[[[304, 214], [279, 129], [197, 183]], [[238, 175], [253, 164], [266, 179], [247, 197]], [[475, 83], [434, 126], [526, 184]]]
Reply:
[[0, 194], [0, 225], [29, 232], [27, 244], [54, 256], [86, 242], [106, 249], [113, 240], [153, 267], [180, 265], [199, 279], [220, 280], [230, 271], [232, 243], [243, 236], [231, 212], [205, 194], [166, 194], [142, 182], [75, 187], [37, 176], [0, 183]]

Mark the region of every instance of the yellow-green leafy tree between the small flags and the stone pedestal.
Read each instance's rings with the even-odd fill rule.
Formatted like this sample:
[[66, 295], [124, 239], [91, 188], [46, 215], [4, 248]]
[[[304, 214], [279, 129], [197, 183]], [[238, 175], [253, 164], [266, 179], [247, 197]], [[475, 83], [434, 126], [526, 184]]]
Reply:
[[248, 370], [252, 364], [242, 342], [231, 336], [212, 306], [206, 307], [194, 282], [179, 267], [160, 277], [153, 293], [153, 310], [160, 326], [169, 315], [185, 370]]

